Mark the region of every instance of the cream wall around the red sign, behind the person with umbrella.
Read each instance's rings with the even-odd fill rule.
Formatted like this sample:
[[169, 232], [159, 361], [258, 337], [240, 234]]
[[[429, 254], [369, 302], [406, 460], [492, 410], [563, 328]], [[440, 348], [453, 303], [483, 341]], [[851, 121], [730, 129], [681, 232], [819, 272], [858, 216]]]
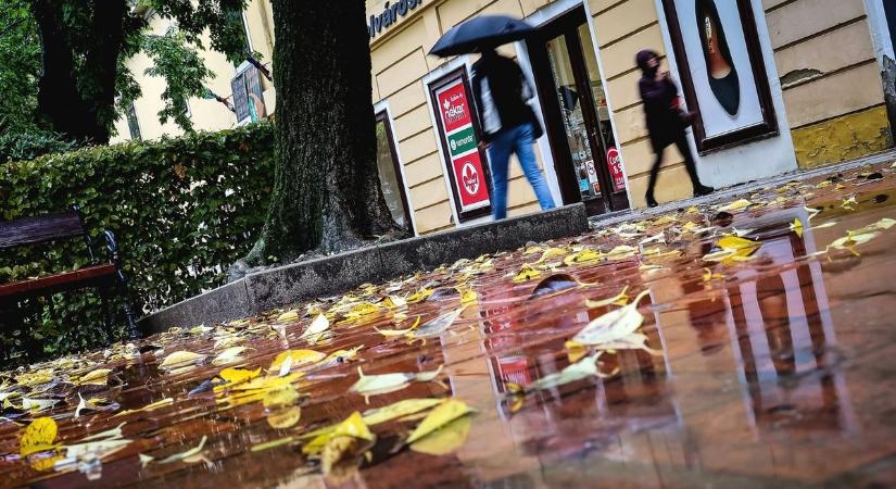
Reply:
[[[392, 2], [394, 3], [394, 2]], [[427, 104], [424, 76], [450, 60], [427, 55], [436, 41], [452, 26], [480, 14], [527, 16], [548, 3], [546, 0], [452, 0], [426, 1], [413, 13], [383, 29], [370, 43], [374, 101], [387, 100], [393, 117], [402, 164], [408, 188], [408, 203], [416, 214], [420, 234], [455, 226], [439, 142]], [[368, 1], [370, 15], [379, 15], [386, 1]], [[502, 48], [516, 58], [513, 46]], [[545, 143], [540, 141], [540, 145]], [[542, 151], [535, 154], [541, 160]], [[543, 164], [540, 161], [540, 165]], [[516, 160], [510, 161], [508, 215], [539, 209], [535, 197]]]

